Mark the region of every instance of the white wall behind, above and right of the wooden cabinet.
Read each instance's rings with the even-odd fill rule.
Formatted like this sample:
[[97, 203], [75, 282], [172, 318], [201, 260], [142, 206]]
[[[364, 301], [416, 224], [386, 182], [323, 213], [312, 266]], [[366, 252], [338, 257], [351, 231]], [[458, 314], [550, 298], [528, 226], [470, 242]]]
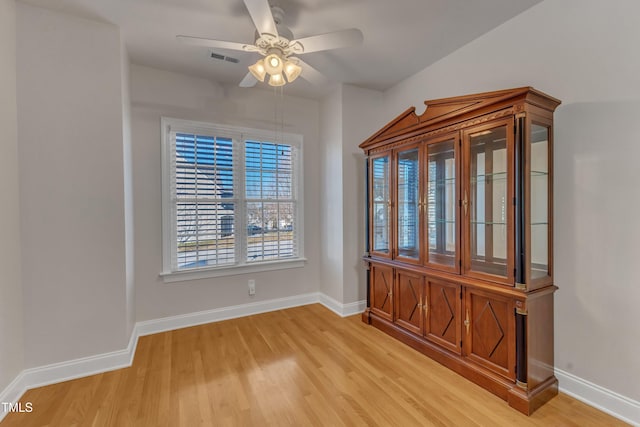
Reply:
[[563, 101], [555, 116], [555, 363], [636, 401], [638, 16], [636, 0], [547, 0], [386, 94], [389, 119], [410, 105], [421, 113], [425, 99], [528, 85]]

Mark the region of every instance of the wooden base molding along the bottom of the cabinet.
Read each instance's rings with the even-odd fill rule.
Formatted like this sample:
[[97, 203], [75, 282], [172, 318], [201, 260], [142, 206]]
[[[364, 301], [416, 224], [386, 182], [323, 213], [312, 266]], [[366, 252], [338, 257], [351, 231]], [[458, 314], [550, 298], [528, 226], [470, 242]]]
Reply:
[[362, 313], [362, 321], [495, 394], [505, 400], [509, 406], [525, 415], [531, 415], [536, 409], [558, 394], [558, 380], [555, 376], [541, 382], [532, 390], [523, 390], [514, 381], [510, 381], [473, 362], [465, 360], [459, 354], [432, 344], [430, 341], [381, 318], [369, 309]]

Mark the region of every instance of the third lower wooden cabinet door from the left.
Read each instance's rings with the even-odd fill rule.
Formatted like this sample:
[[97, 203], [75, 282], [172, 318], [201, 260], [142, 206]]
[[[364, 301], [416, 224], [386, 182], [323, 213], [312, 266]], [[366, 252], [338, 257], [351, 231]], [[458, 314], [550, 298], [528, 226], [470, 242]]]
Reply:
[[428, 278], [425, 289], [425, 338], [460, 354], [462, 349], [460, 285]]

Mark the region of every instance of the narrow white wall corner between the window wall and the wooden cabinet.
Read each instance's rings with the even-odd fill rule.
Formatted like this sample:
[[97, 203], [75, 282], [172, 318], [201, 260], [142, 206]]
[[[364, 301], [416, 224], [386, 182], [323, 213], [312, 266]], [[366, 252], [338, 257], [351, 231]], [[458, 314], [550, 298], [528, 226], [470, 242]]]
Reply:
[[365, 157], [358, 145], [380, 128], [383, 94], [340, 85], [322, 100], [321, 291], [342, 304], [367, 297]]

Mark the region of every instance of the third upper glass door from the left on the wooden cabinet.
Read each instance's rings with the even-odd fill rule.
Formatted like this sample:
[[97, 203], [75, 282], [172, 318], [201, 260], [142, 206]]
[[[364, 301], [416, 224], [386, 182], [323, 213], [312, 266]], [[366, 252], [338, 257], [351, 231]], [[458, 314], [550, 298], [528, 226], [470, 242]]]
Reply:
[[455, 140], [427, 147], [428, 262], [454, 266], [456, 262]]

